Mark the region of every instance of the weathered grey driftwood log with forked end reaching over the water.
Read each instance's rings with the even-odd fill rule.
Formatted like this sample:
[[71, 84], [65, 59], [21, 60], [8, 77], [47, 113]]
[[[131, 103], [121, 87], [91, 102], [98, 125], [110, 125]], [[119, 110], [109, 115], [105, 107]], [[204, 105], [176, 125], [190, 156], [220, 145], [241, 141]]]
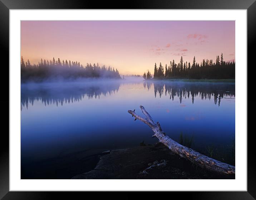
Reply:
[[159, 142], [168, 147], [172, 152], [180, 155], [183, 158], [190, 160], [192, 163], [199, 165], [202, 168], [206, 168], [211, 171], [216, 171], [223, 174], [235, 174], [235, 166], [222, 163], [221, 161], [207, 157], [201, 153], [196, 152], [193, 149], [185, 147], [171, 138], [169, 138], [162, 130], [159, 122], [154, 123], [152, 117], [148, 114], [143, 106], [140, 106], [142, 113], [146, 116], [146, 119], [136, 114], [134, 111], [129, 110], [128, 113], [132, 114], [136, 119], [141, 120], [147, 124], [154, 132], [152, 137], [157, 137]]

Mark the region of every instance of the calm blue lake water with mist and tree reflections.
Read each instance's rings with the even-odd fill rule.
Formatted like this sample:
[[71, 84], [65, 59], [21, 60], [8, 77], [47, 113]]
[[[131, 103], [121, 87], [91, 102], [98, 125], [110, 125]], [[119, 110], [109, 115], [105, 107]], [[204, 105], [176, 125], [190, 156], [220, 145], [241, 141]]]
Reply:
[[134, 121], [143, 105], [169, 137], [227, 151], [235, 137], [235, 83], [85, 81], [21, 86], [21, 178], [71, 178], [91, 170], [97, 154], [154, 144]]

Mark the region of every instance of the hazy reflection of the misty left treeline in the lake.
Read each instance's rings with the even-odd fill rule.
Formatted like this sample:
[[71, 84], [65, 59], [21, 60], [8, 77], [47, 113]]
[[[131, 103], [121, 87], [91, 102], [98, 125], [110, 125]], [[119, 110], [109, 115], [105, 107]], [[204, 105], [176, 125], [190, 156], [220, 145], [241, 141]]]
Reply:
[[24, 84], [21, 86], [21, 110], [28, 106], [34, 105], [34, 101], [42, 102], [45, 106], [63, 103], [69, 104], [82, 101], [88, 98], [100, 98], [100, 96], [111, 95], [118, 92], [120, 87], [119, 82], [111, 83], [75, 83], [75, 84]]

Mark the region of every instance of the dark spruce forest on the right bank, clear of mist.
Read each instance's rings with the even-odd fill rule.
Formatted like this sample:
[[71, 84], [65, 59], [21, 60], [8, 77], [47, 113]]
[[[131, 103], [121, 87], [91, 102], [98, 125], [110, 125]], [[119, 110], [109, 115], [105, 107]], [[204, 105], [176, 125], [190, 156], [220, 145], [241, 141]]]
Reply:
[[233, 62], [226, 62], [223, 60], [223, 54], [220, 56], [216, 56], [216, 61], [205, 60], [201, 62], [201, 64], [196, 62], [196, 58], [194, 56], [192, 65], [190, 62], [184, 62], [183, 57], [181, 56], [181, 60], [178, 64], [173, 61], [167, 66], [162, 66], [161, 62], [159, 67], [157, 68], [157, 64], [155, 63], [154, 67], [154, 76], [152, 76], [151, 72], [148, 71], [143, 74], [143, 78], [145, 80], [151, 79], [176, 79], [176, 78], [184, 78], [184, 79], [235, 79], [235, 65]]

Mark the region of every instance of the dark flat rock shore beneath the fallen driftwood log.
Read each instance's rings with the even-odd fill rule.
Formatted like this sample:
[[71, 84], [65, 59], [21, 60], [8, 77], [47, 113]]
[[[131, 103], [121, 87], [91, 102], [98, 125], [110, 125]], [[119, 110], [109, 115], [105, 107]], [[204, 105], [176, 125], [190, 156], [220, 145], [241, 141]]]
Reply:
[[156, 144], [105, 152], [93, 170], [71, 179], [235, 179], [235, 175], [202, 169]]

